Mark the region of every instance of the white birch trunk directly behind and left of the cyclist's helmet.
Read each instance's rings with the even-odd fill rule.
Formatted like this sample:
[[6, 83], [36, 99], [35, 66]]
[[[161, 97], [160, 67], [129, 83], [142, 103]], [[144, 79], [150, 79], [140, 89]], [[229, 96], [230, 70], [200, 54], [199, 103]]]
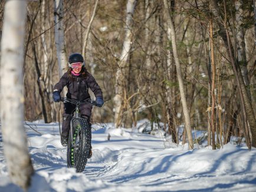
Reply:
[[67, 54], [63, 27], [63, 0], [54, 0], [55, 45], [60, 77], [67, 71]]

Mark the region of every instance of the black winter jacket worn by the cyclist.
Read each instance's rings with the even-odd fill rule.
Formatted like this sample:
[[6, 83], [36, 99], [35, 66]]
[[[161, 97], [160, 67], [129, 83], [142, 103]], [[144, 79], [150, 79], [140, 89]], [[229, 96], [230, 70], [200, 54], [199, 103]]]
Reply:
[[93, 75], [91, 75], [89, 72], [87, 72], [86, 78], [81, 77], [81, 75], [72, 75], [72, 79], [69, 77], [68, 72], [65, 72], [63, 77], [61, 77], [60, 81], [54, 85], [53, 90], [58, 90], [61, 92], [65, 86], [67, 86], [68, 88], [68, 98], [74, 98], [76, 100], [86, 100], [87, 98], [90, 98], [88, 88], [93, 91], [95, 97], [103, 98], [100, 86], [97, 84]]

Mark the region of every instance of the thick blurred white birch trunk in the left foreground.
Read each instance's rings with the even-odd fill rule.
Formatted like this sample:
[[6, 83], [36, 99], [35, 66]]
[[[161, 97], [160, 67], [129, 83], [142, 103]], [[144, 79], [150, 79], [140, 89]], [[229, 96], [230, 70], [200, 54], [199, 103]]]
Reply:
[[1, 123], [11, 180], [26, 190], [33, 167], [24, 129], [22, 64], [27, 1], [5, 2], [1, 41]]

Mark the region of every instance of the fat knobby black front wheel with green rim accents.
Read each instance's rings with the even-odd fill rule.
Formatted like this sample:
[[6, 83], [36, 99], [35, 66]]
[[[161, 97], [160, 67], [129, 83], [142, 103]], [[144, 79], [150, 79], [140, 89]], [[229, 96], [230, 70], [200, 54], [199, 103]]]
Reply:
[[91, 128], [84, 118], [74, 118], [71, 121], [71, 128], [73, 129], [73, 135], [70, 130], [67, 146], [67, 166], [75, 167], [77, 172], [83, 172], [90, 153]]

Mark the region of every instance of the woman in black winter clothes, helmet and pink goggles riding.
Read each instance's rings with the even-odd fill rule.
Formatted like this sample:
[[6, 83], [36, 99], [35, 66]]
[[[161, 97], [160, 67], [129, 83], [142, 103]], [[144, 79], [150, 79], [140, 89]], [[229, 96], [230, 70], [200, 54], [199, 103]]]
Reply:
[[[70, 57], [68, 57], [68, 67], [68, 71], [65, 72], [63, 77], [60, 78], [60, 81], [54, 85], [54, 91], [52, 93], [52, 98], [54, 102], [60, 102], [60, 93], [65, 86], [67, 86], [68, 89], [66, 95], [67, 98], [72, 98], [80, 101], [90, 98], [90, 94], [88, 93], [88, 88], [90, 88], [96, 97], [96, 106], [102, 107], [104, 104], [104, 100], [101, 88], [97, 84], [93, 75], [91, 75], [84, 66], [83, 56], [78, 53], [71, 54]], [[86, 118], [90, 126], [92, 108], [93, 107], [91, 104], [80, 105], [81, 117]], [[63, 146], [67, 146], [68, 134], [70, 133], [70, 121], [73, 117], [73, 112], [75, 109], [76, 105], [71, 104], [70, 102], [64, 103], [63, 124], [61, 131], [61, 144]], [[90, 157], [91, 155], [92, 151], [90, 148]]]

